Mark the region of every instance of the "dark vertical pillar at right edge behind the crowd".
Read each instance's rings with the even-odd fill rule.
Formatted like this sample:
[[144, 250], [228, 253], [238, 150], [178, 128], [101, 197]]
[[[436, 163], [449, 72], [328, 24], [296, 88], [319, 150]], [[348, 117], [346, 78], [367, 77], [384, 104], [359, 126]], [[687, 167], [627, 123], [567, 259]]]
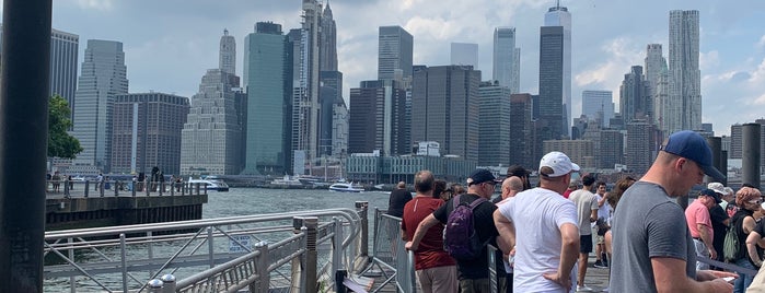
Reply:
[[741, 183], [760, 189], [760, 124], [745, 124], [741, 127], [742, 156]]

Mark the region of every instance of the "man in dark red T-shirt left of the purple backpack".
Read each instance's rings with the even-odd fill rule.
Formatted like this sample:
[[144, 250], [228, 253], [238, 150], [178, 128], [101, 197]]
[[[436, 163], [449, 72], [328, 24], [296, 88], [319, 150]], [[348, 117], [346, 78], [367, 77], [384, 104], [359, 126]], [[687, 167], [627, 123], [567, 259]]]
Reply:
[[[415, 175], [417, 195], [404, 206], [401, 228], [404, 239], [413, 239], [417, 225], [438, 208], [443, 200], [433, 198], [433, 174], [420, 171]], [[422, 292], [456, 292], [456, 262], [443, 250], [443, 224], [427, 230], [415, 250], [415, 276]]]

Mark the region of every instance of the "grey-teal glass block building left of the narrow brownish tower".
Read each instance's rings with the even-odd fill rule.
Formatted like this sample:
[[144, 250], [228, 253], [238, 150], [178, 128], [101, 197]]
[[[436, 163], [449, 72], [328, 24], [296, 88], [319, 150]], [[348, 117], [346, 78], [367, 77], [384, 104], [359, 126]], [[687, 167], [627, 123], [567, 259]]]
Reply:
[[478, 165], [508, 165], [510, 152], [510, 89], [497, 81], [478, 86]]

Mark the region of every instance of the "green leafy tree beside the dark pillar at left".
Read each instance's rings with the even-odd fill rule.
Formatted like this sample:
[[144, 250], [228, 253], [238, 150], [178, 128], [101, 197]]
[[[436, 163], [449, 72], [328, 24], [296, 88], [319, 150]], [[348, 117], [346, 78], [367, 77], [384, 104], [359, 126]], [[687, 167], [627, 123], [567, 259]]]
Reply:
[[54, 95], [48, 99], [48, 157], [74, 159], [82, 152], [80, 141], [67, 132], [72, 127], [70, 114], [66, 98]]

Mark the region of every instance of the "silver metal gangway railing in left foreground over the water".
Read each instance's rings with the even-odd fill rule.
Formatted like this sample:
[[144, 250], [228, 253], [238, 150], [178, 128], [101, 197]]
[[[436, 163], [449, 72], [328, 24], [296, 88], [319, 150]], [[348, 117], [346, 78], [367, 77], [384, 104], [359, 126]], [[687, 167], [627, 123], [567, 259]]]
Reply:
[[366, 254], [358, 206], [47, 232], [46, 290], [144, 292], [163, 274], [177, 278], [176, 292], [333, 285]]

